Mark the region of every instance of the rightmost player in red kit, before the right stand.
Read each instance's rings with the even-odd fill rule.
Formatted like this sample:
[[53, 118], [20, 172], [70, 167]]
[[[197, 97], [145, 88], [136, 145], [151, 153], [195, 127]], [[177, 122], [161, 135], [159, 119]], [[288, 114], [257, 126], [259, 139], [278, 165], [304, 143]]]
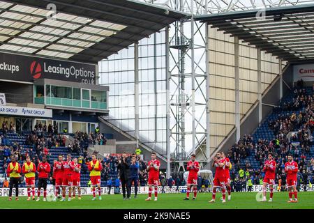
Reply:
[[[292, 155], [288, 155], [288, 162], [285, 163], [285, 172], [287, 173], [287, 189], [289, 191], [289, 201], [288, 203], [298, 202], [298, 192], [297, 192], [297, 173], [298, 164], [293, 161]], [[294, 200], [292, 200], [292, 194], [294, 194]]]

